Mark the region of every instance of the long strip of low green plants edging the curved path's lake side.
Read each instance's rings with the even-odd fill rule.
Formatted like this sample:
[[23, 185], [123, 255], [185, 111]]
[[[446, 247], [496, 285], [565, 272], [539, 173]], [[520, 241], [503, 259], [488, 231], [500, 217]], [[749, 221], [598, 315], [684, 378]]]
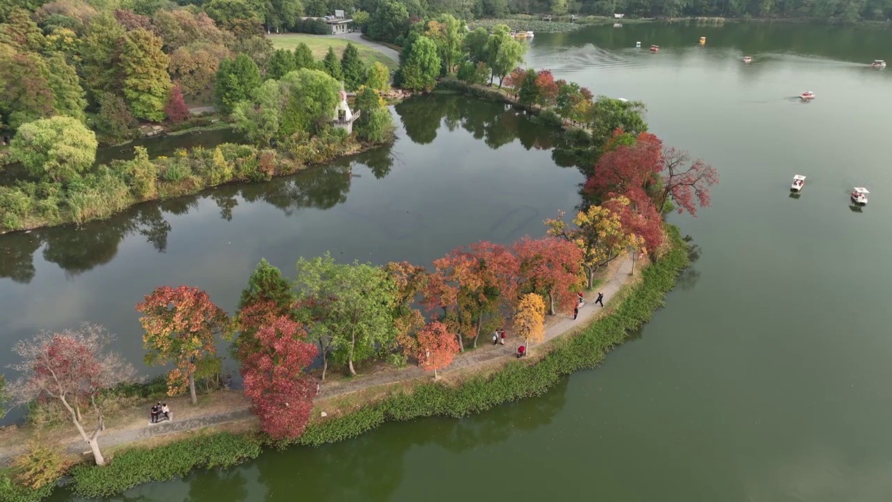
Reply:
[[[347, 413], [312, 420], [300, 438], [289, 442], [269, 442], [252, 431], [198, 430], [157, 448], [128, 448], [103, 467], [76, 465], [67, 484], [79, 497], [111, 497], [147, 482], [182, 477], [195, 469], [232, 467], [260, 456], [263, 448], [316, 447], [357, 437], [385, 422], [429, 416], [459, 418], [541, 396], [565, 376], [597, 367], [664, 305], [678, 274], [689, 264], [688, 245], [677, 227], [666, 225], [665, 231], [668, 242], [663, 254], [643, 269], [640, 282], [624, 286], [611, 312], [567, 332], [549, 347], [537, 347], [537, 354], [530, 359], [508, 358], [494, 371], [482, 368], [467, 372], [457, 381], [426, 381], [410, 389], [391, 389], [383, 396], [355, 403]], [[0, 487], [4, 486], [3, 477], [0, 474]], [[0, 494], [0, 502], [37, 501], [48, 497], [53, 486], [51, 483], [50, 488], [32, 490], [11, 484]]]

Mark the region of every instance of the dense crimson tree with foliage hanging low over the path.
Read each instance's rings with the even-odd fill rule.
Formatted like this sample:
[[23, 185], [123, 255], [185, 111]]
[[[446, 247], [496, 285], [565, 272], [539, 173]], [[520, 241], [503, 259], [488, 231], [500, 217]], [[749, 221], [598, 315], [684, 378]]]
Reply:
[[300, 323], [278, 317], [257, 331], [257, 350], [241, 367], [244, 395], [251, 399], [261, 429], [273, 439], [300, 436], [310, 419], [316, 386], [303, 370], [319, 350], [306, 338]]

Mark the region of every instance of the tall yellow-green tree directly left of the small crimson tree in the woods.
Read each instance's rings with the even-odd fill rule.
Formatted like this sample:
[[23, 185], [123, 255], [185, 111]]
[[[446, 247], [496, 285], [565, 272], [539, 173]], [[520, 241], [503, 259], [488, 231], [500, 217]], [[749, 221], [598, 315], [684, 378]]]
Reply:
[[164, 120], [170, 92], [169, 59], [161, 52], [161, 38], [146, 29], [129, 31], [120, 61], [124, 70], [124, 97], [133, 115], [147, 121]]

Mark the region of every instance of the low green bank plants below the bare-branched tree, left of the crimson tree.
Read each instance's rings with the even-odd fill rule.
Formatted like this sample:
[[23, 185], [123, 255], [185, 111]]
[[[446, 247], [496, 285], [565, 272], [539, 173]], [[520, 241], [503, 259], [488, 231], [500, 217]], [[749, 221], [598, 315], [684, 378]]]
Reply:
[[80, 497], [108, 497], [146, 482], [182, 477], [198, 468], [231, 467], [258, 455], [257, 439], [219, 432], [158, 448], [132, 449], [104, 466], [78, 465], [71, 470], [71, 483]]

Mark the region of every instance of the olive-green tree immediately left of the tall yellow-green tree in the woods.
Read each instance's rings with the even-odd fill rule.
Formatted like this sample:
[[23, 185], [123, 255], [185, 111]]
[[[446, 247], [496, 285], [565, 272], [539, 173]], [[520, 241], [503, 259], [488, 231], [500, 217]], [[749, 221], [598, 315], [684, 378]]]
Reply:
[[121, 41], [126, 31], [111, 13], [95, 15], [80, 45], [80, 70], [91, 100], [103, 93], [120, 93], [123, 75], [119, 64]]

